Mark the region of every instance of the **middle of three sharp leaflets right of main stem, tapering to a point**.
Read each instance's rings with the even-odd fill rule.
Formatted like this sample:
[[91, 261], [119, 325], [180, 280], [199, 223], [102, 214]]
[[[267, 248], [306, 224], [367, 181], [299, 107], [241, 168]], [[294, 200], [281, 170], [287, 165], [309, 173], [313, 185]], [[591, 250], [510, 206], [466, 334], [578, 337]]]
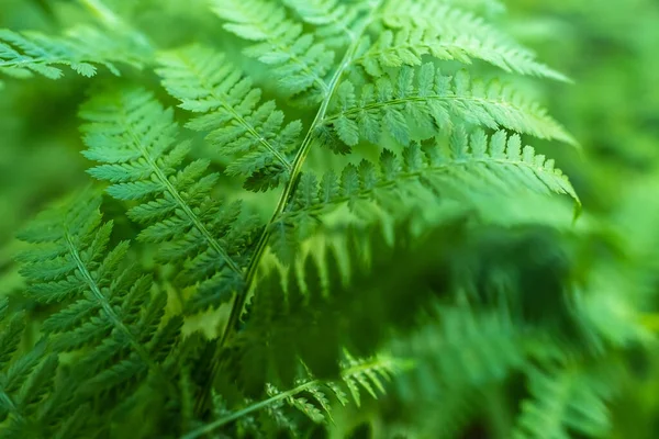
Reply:
[[382, 77], [375, 86], [367, 83], [359, 99], [355, 86], [343, 82], [334, 110], [323, 123], [348, 146], [360, 139], [379, 144], [383, 132], [407, 145], [413, 139], [412, 127], [429, 136], [438, 128], [450, 128], [454, 120], [574, 143], [544, 109], [514, 89], [498, 81], [471, 80], [465, 70], [455, 77], [443, 76], [432, 64], [417, 70], [403, 67], [394, 79]]

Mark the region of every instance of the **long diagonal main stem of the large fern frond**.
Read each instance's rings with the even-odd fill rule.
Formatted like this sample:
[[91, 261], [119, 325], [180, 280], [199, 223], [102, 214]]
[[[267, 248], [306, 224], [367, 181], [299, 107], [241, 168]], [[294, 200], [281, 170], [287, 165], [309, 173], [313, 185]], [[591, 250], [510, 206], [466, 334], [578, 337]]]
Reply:
[[[292, 200], [292, 195], [293, 195], [295, 188], [298, 187], [298, 183], [300, 181], [302, 166], [304, 165], [304, 161], [305, 161], [306, 156], [309, 155], [309, 150], [311, 148], [314, 132], [323, 123], [323, 120], [325, 119], [325, 114], [327, 113], [327, 108], [330, 106], [330, 102], [332, 101], [332, 98], [334, 97], [334, 93], [338, 87], [338, 83], [340, 82], [340, 79], [342, 79], [344, 72], [350, 66], [353, 58], [355, 57], [355, 53], [357, 52], [359, 40], [361, 38], [361, 35], [364, 34], [364, 32], [366, 32], [368, 26], [372, 23], [375, 16], [376, 16], [376, 11], [381, 5], [381, 3], [382, 3], [382, 0], [375, 0], [370, 3], [371, 9], [370, 9], [368, 15], [365, 18], [364, 23], [362, 23], [361, 27], [359, 29], [359, 32], [357, 32], [355, 34], [355, 38], [353, 40], [353, 42], [346, 49], [346, 53], [342, 59], [340, 65], [338, 66], [338, 68], [334, 72], [334, 75], [332, 76], [332, 80], [330, 81], [328, 91], [327, 91], [325, 98], [323, 99], [323, 102], [321, 103], [321, 106], [319, 108], [319, 111], [317, 111], [313, 122], [311, 123], [311, 126], [309, 127], [306, 135], [304, 136], [304, 140], [302, 140], [302, 145], [300, 146], [300, 149], [298, 150], [298, 153], [295, 155], [295, 159], [293, 160], [293, 169], [291, 171], [289, 181], [286, 184], [286, 188], [283, 189], [283, 192], [281, 193], [281, 196], [279, 198], [279, 201], [277, 203], [277, 209], [275, 210], [275, 212], [272, 213], [272, 216], [270, 217], [270, 221], [266, 225], [266, 227], [258, 240], [258, 244], [256, 246], [256, 250], [249, 260], [249, 266], [247, 268], [247, 273], [245, 275], [245, 286], [242, 291], [239, 291], [236, 294], [236, 297], [234, 300], [234, 303], [233, 303], [233, 306], [231, 309], [231, 314], [228, 316], [228, 322], [226, 323], [224, 333], [222, 334], [222, 338], [220, 339], [220, 342], [217, 344], [217, 348], [215, 349], [215, 353], [213, 356], [212, 365], [211, 365], [211, 368], [212, 368], [211, 375], [210, 375], [211, 384], [215, 382], [215, 376], [220, 370], [220, 356], [222, 354], [222, 348], [226, 345], [227, 340], [231, 338], [233, 333], [238, 327], [238, 324], [241, 320], [241, 315], [243, 314], [243, 308], [245, 307], [245, 303], [247, 301], [247, 295], [248, 295], [249, 291], [252, 290], [252, 285], [253, 285], [254, 281], [256, 280], [256, 273], [258, 271], [260, 260], [261, 260], [263, 256], [265, 255], [266, 248], [268, 247], [268, 240], [270, 238], [270, 228], [271, 228], [272, 224], [275, 224], [277, 222], [277, 219], [283, 214], [283, 212], [289, 206], [289, 204]], [[203, 410], [206, 398], [208, 398], [208, 393], [203, 393], [200, 401], [198, 401], [198, 404], [196, 407], [196, 410], [198, 413], [200, 410]]]

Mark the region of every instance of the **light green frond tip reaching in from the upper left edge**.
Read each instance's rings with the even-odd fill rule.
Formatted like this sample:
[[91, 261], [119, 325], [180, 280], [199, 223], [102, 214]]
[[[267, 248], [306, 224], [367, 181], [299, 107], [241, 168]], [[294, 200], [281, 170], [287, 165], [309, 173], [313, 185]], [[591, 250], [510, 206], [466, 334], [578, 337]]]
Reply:
[[37, 74], [58, 79], [63, 71], [57, 66], [69, 66], [91, 77], [97, 72], [96, 65], [119, 76], [116, 63], [141, 67], [145, 53], [146, 48], [130, 35], [109, 35], [90, 26], [75, 27], [62, 37], [0, 30], [0, 74], [18, 78]]

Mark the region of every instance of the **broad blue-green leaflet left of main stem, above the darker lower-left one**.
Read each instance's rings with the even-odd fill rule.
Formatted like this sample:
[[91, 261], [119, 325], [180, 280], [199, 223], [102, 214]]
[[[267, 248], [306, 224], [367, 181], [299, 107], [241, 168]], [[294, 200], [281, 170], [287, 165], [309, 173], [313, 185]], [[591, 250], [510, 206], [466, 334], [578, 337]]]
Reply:
[[[219, 178], [206, 173], [208, 160], [183, 167], [190, 146], [176, 145], [177, 124], [143, 90], [101, 94], [81, 110], [89, 123], [82, 126], [90, 160], [103, 165], [90, 169], [110, 181], [108, 193], [139, 203], [129, 216], [146, 226], [139, 240], [164, 243], [165, 261], [185, 261], [178, 281], [198, 285], [191, 311], [231, 299], [242, 284], [254, 225], [239, 218], [241, 204], [220, 203], [211, 198]], [[199, 302], [198, 302], [199, 301]]]

